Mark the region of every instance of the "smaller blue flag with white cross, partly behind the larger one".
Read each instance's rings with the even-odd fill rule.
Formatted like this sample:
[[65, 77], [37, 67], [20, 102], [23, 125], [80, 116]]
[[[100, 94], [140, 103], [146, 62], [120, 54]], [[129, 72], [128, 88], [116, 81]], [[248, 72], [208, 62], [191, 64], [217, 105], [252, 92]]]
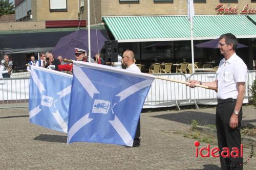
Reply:
[[30, 122], [67, 133], [71, 84], [71, 75], [31, 66]]

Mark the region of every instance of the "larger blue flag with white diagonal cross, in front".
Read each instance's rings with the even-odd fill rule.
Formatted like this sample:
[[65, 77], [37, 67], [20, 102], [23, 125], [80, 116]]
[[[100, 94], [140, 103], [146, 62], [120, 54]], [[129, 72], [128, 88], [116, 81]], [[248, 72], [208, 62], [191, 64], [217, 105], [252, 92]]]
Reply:
[[73, 71], [68, 143], [132, 146], [140, 112], [155, 76], [77, 61]]

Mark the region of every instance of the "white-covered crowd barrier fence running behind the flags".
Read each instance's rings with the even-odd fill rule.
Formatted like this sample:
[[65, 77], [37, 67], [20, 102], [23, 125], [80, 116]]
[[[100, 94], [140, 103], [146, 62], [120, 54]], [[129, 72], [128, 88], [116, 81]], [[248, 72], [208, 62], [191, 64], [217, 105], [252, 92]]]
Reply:
[[[27, 74], [25, 74], [27, 76]], [[24, 75], [24, 76], [25, 76]], [[196, 74], [156, 74], [156, 76], [180, 81], [191, 79], [203, 82], [214, 81], [215, 72]], [[256, 79], [256, 70], [248, 71], [244, 103], [251, 96], [250, 87]], [[0, 108], [28, 107], [29, 78], [8, 78], [0, 80]], [[217, 93], [200, 87], [194, 89], [185, 84], [156, 79], [148, 91], [143, 108], [172, 107], [182, 105], [216, 105]], [[197, 105], [198, 106], [198, 105]]]

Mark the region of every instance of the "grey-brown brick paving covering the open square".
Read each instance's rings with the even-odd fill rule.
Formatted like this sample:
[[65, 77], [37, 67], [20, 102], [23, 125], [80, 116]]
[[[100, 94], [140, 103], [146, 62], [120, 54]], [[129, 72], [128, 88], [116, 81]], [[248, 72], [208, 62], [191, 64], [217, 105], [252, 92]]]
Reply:
[[[0, 169], [220, 169], [219, 158], [195, 157], [195, 139], [174, 133], [188, 131], [192, 119], [200, 125], [214, 124], [215, 107], [174, 109], [143, 110], [138, 148], [85, 142], [68, 145], [65, 133], [29, 123], [28, 108], [0, 109]], [[243, 109], [244, 123], [256, 125], [256, 109]], [[200, 147], [206, 145], [201, 142]], [[249, 152], [244, 149], [244, 158]], [[253, 157], [244, 169], [255, 167]]]

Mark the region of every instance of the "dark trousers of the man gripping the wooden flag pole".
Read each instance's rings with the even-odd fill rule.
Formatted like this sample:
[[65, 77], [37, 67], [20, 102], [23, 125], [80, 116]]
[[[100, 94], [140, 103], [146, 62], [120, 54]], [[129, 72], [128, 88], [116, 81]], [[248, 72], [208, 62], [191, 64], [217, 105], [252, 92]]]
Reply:
[[[232, 148], [239, 148], [241, 144], [241, 120], [242, 120], [242, 108], [238, 117], [238, 127], [236, 129], [230, 129], [229, 120], [234, 111], [234, 106], [236, 105], [236, 100], [226, 99], [218, 100], [218, 105], [216, 108], [216, 129], [218, 137], [218, 145], [220, 149], [220, 154], [222, 148], [229, 148], [230, 152]], [[243, 169], [243, 158], [222, 158], [220, 155], [221, 169]]]

